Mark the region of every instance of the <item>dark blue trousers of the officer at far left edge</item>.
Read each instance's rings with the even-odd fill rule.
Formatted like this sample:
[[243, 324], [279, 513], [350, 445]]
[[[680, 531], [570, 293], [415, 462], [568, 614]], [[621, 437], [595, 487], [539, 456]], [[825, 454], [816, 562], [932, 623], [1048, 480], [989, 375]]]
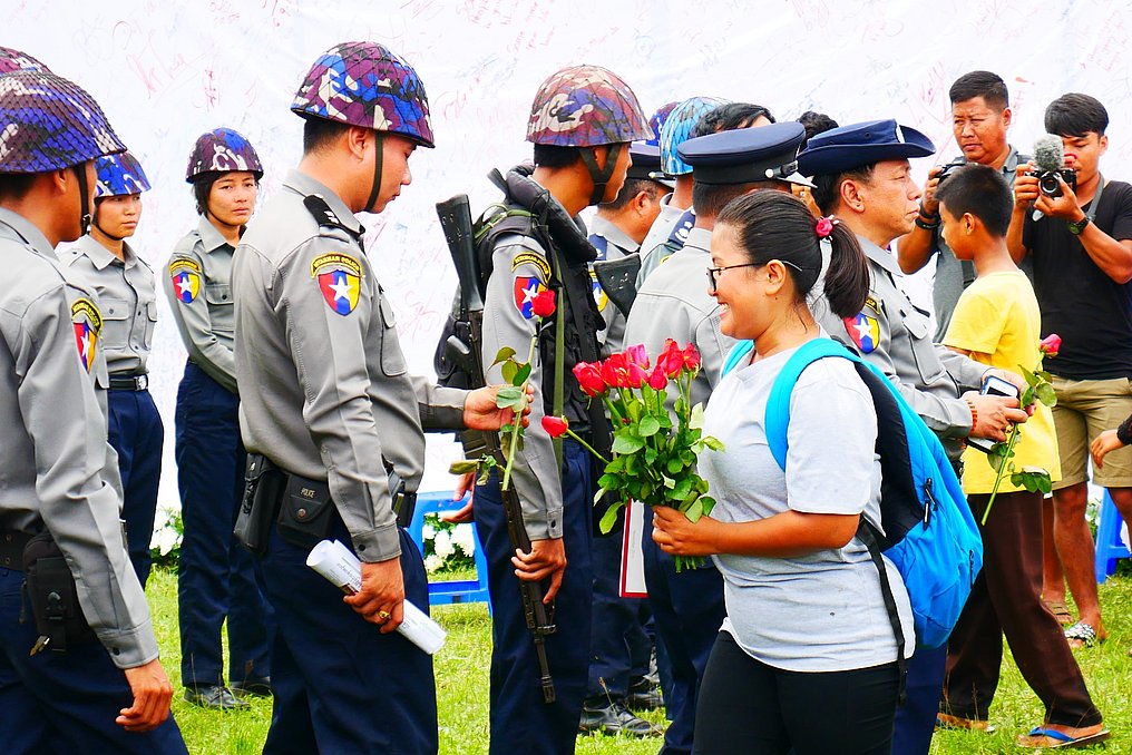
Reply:
[[145, 733], [114, 723], [134, 695], [98, 642], [28, 655], [36, 632], [31, 619], [19, 620], [23, 584], [23, 572], [0, 568], [0, 749], [6, 755], [187, 755], [172, 715]]

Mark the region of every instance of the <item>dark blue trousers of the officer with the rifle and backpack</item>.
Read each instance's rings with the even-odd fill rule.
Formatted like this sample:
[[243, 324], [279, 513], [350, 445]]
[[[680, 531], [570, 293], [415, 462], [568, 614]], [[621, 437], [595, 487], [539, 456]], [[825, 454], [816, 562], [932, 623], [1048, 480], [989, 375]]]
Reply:
[[590, 456], [573, 441], [563, 444], [563, 540], [566, 573], [554, 606], [558, 626], [547, 637], [547, 657], [557, 702], [542, 702], [539, 664], [523, 616], [514, 548], [492, 475], [475, 489], [475, 523], [488, 558], [491, 591], [492, 755], [573, 753], [582, 701], [589, 683], [593, 566], [590, 560], [593, 475]]

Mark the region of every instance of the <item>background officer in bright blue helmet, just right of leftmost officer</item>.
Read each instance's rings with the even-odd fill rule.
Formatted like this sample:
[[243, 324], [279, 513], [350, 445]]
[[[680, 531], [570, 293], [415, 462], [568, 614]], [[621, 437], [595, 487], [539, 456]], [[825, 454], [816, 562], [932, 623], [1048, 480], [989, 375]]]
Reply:
[[149, 395], [146, 362], [157, 323], [153, 268], [127, 243], [142, 220], [149, 180], [128, 152], [94, 162], [94, 221], [63, 263], [98, 297], [102, 346], [110, 370], [110, 445], [122, 478], [122, 521], [134, 570], [149, 578], [165, 428]]

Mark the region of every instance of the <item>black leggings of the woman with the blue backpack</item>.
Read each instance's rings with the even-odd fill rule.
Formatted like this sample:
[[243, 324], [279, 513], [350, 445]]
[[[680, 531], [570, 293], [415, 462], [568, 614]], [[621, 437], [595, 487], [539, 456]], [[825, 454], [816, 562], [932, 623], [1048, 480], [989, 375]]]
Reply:
[[712, 647], [696, 705], [695, 755], [887, 755], [895, 662], [851, 671], [784, 671], [727, 632]]

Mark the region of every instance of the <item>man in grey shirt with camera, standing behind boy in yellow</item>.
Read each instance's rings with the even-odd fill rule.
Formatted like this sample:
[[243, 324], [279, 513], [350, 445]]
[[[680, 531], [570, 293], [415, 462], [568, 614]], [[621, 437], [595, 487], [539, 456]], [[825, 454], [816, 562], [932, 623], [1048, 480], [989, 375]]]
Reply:
[[[1006, 181], [1013, 183], [1018, 166], [1027, 161], [1006, 141], [1006, 130], [1010, 129], [1012, 119], [1010, 93], [998, 75], [990, 71], [964, 74], [951, 85], [947, 95], [951, 100], [952, 132], [963, 154], [946, 165], [928, 171], [916, 226], [901, 237], [897, 249], [900, 269], [909, 275], [927, 265], [932, 255], [937, 255], [932, 289], [935, 311], [933, 341], [936, 343], [943, 341], [943, 334], [947, 332], [959, 294], [975, 281], [975, 265], [955, 259], [943, 240], [940, 203], [935, 199], [935, 190], [949, 174], [968, 162], [1000, 170]], [[1021, 267], [1030, 275], [1029, 263]]]

